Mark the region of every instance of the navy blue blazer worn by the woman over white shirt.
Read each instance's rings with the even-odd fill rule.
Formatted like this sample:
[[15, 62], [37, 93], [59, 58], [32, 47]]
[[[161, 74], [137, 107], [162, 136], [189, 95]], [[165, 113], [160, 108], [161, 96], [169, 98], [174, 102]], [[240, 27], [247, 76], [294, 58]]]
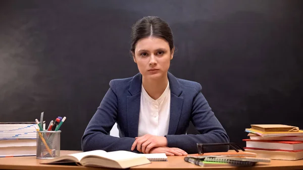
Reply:
[[[226, 143], [229, 137], [215, 117], [197, 82], [178, 79], [168, 73], [171, 90], [170, 120], [166, 135], [168, 147], [197, 153], [196, 143]], [[127, 150], [138, 135], [142, 75], [110, 81], [110, 88], [87, 125], [82, 150]], [[198, 135], [187, 134], [192, 122]], [[110, 136], [117, 122], [119, 136]], [[225, 147], [224, 150], [227, 150]], [[135, 152], [138, 152], [135, 149]]]

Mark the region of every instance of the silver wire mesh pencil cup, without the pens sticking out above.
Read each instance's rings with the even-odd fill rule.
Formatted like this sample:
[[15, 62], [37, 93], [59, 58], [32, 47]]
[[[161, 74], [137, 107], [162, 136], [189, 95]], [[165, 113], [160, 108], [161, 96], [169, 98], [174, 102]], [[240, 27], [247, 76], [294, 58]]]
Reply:
[[60, 156], [61, 131], [37, 131], [37, 159], [50, 159]]

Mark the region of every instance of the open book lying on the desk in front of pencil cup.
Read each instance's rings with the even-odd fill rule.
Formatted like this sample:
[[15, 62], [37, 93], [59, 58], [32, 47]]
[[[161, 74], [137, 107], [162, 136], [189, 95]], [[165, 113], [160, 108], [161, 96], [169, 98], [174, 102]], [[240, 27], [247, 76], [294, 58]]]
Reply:
[[93, 150], [60, 156], [53, 159], [43, 160], [42, 164], [60, 164], [75, 162], [82, 166], [129, 168], [132, 166], [150, 163], [143, 155], [129, 151], [106, 152], [104, 150]]

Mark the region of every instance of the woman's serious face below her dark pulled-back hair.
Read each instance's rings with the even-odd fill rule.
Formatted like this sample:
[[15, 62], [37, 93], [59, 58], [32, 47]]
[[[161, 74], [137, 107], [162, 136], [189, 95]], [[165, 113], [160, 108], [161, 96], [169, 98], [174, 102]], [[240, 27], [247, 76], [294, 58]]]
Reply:
[[165, 39], [149, 36], [137, 41], [133, 59], [143, 77], [157, 79], [167, 76], [173, 51]]

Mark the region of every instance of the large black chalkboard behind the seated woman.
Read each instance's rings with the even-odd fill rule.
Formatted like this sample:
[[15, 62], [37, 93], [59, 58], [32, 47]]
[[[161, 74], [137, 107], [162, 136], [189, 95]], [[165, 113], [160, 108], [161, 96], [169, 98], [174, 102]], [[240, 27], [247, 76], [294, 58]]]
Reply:
[[[66, 116], [61, 149], [80, 150], [109, 81], [138, 73], [131, 25], [166, 20], [170, 72], [199, 82], [231, 142], [250, 124], [303, 128], [302, 1], [0, 2], [0, 122]], [[196, 133], [192, 125], [188, 133]]]

